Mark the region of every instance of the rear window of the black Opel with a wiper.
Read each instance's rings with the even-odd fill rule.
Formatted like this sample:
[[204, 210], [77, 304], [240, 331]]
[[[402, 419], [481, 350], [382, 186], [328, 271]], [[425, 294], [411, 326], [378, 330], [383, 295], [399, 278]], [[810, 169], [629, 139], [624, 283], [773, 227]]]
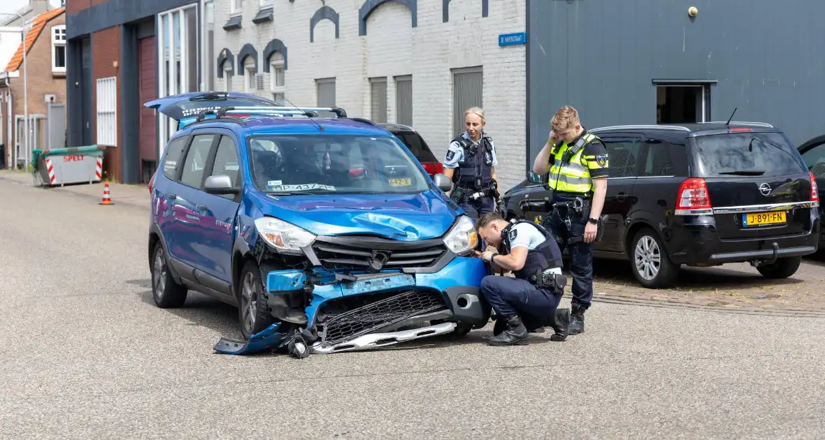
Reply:
[[697, 136], [694, 142], [696, 177], [768, 177], [807, 171], [782, 133], [710, 134]]

